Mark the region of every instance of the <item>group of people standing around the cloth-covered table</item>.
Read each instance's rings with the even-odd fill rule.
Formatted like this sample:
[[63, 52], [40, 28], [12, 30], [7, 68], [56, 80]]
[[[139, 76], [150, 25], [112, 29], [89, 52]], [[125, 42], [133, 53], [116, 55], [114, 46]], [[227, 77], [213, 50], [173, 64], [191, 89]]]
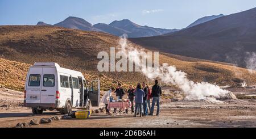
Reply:
[[[111, 87], [111, 89], [106, 92], [101, 100], [102, 103], [105, 104], [106, 113], [111, 115], [110, 109], [108, 109], [109, 99], [111, 99], [112, 94], [115, 93], [117, 96], [117, 100], [122, 99], [125, 95], [125, 90], [123, 89], [122, 85], [118, 83], [117, 89]], [[128, 99], [131, 102], [131, 113], [134, 113], [134, 117], [139, 115], [142, 116], [152, 116], [154, 113], [155, 103], [157, 105], [156, 116], [159, 115], [160, 111], [160, 95], [162, 94], [162, 89], [159, 85], [158, 80], [155, 80], [155, 85], [152, 86], [152, 89], [146, 83], [138, 83], [137, 87], [133, 87], [130, 85], [129, 90], [127, 90]], [[152, 104], [151, 103], [152, 99]], [[135, 103], [135, 109], [134, 109]], [[114, 109], [115, 112], [116, 109]], [[126, 109], [126, 112], [127, 109]]]

